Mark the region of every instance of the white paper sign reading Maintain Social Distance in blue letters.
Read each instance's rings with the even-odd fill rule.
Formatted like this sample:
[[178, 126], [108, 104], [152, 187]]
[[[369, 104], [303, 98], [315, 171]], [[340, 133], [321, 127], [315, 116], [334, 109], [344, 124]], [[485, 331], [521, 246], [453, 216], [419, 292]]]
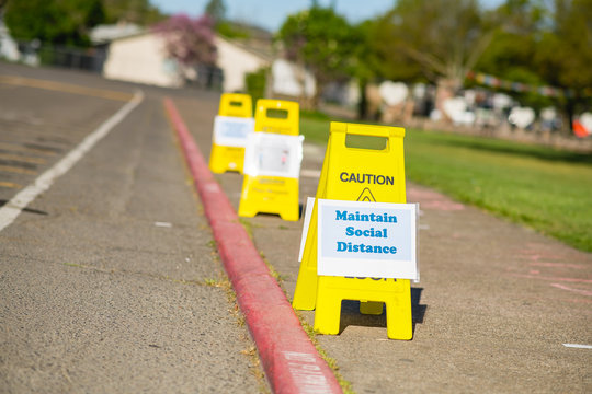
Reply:
[[417, 205], [318, 200], [317, 273], [419, 280]]

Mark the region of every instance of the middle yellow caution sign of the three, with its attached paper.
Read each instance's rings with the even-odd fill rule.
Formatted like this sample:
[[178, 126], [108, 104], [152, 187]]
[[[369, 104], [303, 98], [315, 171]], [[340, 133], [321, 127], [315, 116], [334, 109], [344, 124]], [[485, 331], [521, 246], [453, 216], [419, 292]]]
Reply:
[[244, 152], [244, 179], [238, 215], [277, 213], [299, 219], [298, 177], [303, 159], [299, 105], [296, 102], [259, 100], [254, 131]]

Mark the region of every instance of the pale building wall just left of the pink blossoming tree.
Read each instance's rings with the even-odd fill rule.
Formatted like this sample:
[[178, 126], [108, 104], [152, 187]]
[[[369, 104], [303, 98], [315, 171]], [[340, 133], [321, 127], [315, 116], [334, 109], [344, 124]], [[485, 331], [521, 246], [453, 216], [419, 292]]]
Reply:
[[159, 86], [181, 86], [177, 62], [168, 59], [164, 40], [157, 34], [143, 34], [111, 43], [103, 76]]

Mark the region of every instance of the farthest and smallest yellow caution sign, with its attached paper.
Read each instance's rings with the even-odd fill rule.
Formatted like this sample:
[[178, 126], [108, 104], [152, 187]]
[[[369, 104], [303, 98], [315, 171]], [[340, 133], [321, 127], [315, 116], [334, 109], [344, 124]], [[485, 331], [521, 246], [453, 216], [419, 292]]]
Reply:
[[214, 138], [209, 154], [212, 172], [242, 173], [244, 144], [248, 135], [254, 128], [252, 113], [253, 104], [250, 95], [240, 93], [221, 95], [218, 116], [214, 120]]

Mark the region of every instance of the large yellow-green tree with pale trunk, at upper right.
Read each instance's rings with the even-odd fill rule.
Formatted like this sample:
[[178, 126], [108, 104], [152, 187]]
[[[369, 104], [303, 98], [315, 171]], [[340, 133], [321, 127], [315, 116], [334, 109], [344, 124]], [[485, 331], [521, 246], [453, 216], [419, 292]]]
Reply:
[[[493, 38], [477, 0], [399, 0], [378, 21], [375, 45], [386, 66], [439, 85], [439, 97], [454, 94]], [[439, 103], [436, 103], [439, 106]]]

